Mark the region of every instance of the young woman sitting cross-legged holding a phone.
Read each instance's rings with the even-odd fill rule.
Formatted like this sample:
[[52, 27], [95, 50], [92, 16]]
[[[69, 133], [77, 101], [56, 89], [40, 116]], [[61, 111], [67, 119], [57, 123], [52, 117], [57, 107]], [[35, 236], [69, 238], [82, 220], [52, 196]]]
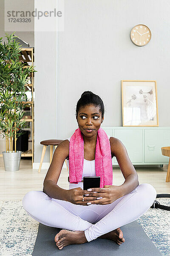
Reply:
[[[86, 91], [77, 102], [76, 119], [84, 141], [84, 176], [96, 176], [95, 151], [97, 131], [104, 120], [104, 105], [96, 94]], [[116, 157], [125, 182], [121, 186], [83, 190], [83, 182], [70, 183], [69, 189], [57, 185], [66, 159], [69, 174], [69, 137], [54, 151], [44, 180], [43, 191], [30, 191], [23, 198], [23, 207], [40, 223], [62, 228], [54, 238], [61, 250], [68, 244], [82, 244], [96, 238], [125, 242], [121, 226], [135, 221], [156, 199], [156, 190], [148, 183], [139, 185], [138, 175], [126, 148], [114, 137], [108, 137], [111, 158]], [[68, 180], [69, 181], [69, 180]], [[86, 195], [86, 196], [84, 196]], [[91, 203], [91, 204], [88, 204]]]

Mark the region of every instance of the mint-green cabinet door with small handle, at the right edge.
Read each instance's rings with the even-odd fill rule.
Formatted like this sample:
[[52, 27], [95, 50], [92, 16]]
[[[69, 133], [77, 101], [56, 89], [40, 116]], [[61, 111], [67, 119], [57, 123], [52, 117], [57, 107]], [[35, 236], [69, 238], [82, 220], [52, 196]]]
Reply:
[[161, 147], [170, 146], [170, 130], [144, 130], [144, 162], [168, 162], [169, 157], [161, 153]]

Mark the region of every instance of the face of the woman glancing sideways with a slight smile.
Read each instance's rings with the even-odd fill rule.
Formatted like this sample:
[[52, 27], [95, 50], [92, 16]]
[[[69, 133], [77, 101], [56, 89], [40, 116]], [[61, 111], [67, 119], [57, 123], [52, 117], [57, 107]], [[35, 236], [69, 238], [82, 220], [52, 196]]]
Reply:
[[81, 107], [78, 111], [77, 122], [79, 129], [86, 137], [96, 135], [103, 120], [104, 117], [102, 118], [99, 107], [94, 105]]

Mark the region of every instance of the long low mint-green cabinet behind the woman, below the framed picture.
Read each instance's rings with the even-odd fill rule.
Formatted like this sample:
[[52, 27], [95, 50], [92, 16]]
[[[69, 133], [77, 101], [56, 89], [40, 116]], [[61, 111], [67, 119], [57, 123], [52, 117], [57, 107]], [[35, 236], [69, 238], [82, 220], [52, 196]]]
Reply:
[[[125, 145], [133, 165], [168, 164], [169, 157], [161, 154], [161, 147], [170, 146], [170, 127], [105, 126], [102, 129]], [[112, 163], [119, 165], [116, 157]]]

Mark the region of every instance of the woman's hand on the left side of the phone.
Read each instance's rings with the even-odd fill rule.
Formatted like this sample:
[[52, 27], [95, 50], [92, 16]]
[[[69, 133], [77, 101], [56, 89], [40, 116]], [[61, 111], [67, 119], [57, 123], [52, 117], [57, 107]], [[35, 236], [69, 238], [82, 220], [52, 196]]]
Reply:
[[[89, 196], [85, 196], [84, 202], [83, 202], [82, 198], [84, 195], [87, 195], [87, 194]], [[87, 203], [89, 201], [98, 200], [98, 199], [96, 199], [96, 197], [94, 195], [95, 194], [93, 191], [91, 192], [91, 191], [87, 191], [87, 190], [82, 190], [82, 188], [80, 188], [80, 187], [68, 190], [69, 202], [71, 202], [72, 204], [81, 204], [81, 205], [88, 206]]]

